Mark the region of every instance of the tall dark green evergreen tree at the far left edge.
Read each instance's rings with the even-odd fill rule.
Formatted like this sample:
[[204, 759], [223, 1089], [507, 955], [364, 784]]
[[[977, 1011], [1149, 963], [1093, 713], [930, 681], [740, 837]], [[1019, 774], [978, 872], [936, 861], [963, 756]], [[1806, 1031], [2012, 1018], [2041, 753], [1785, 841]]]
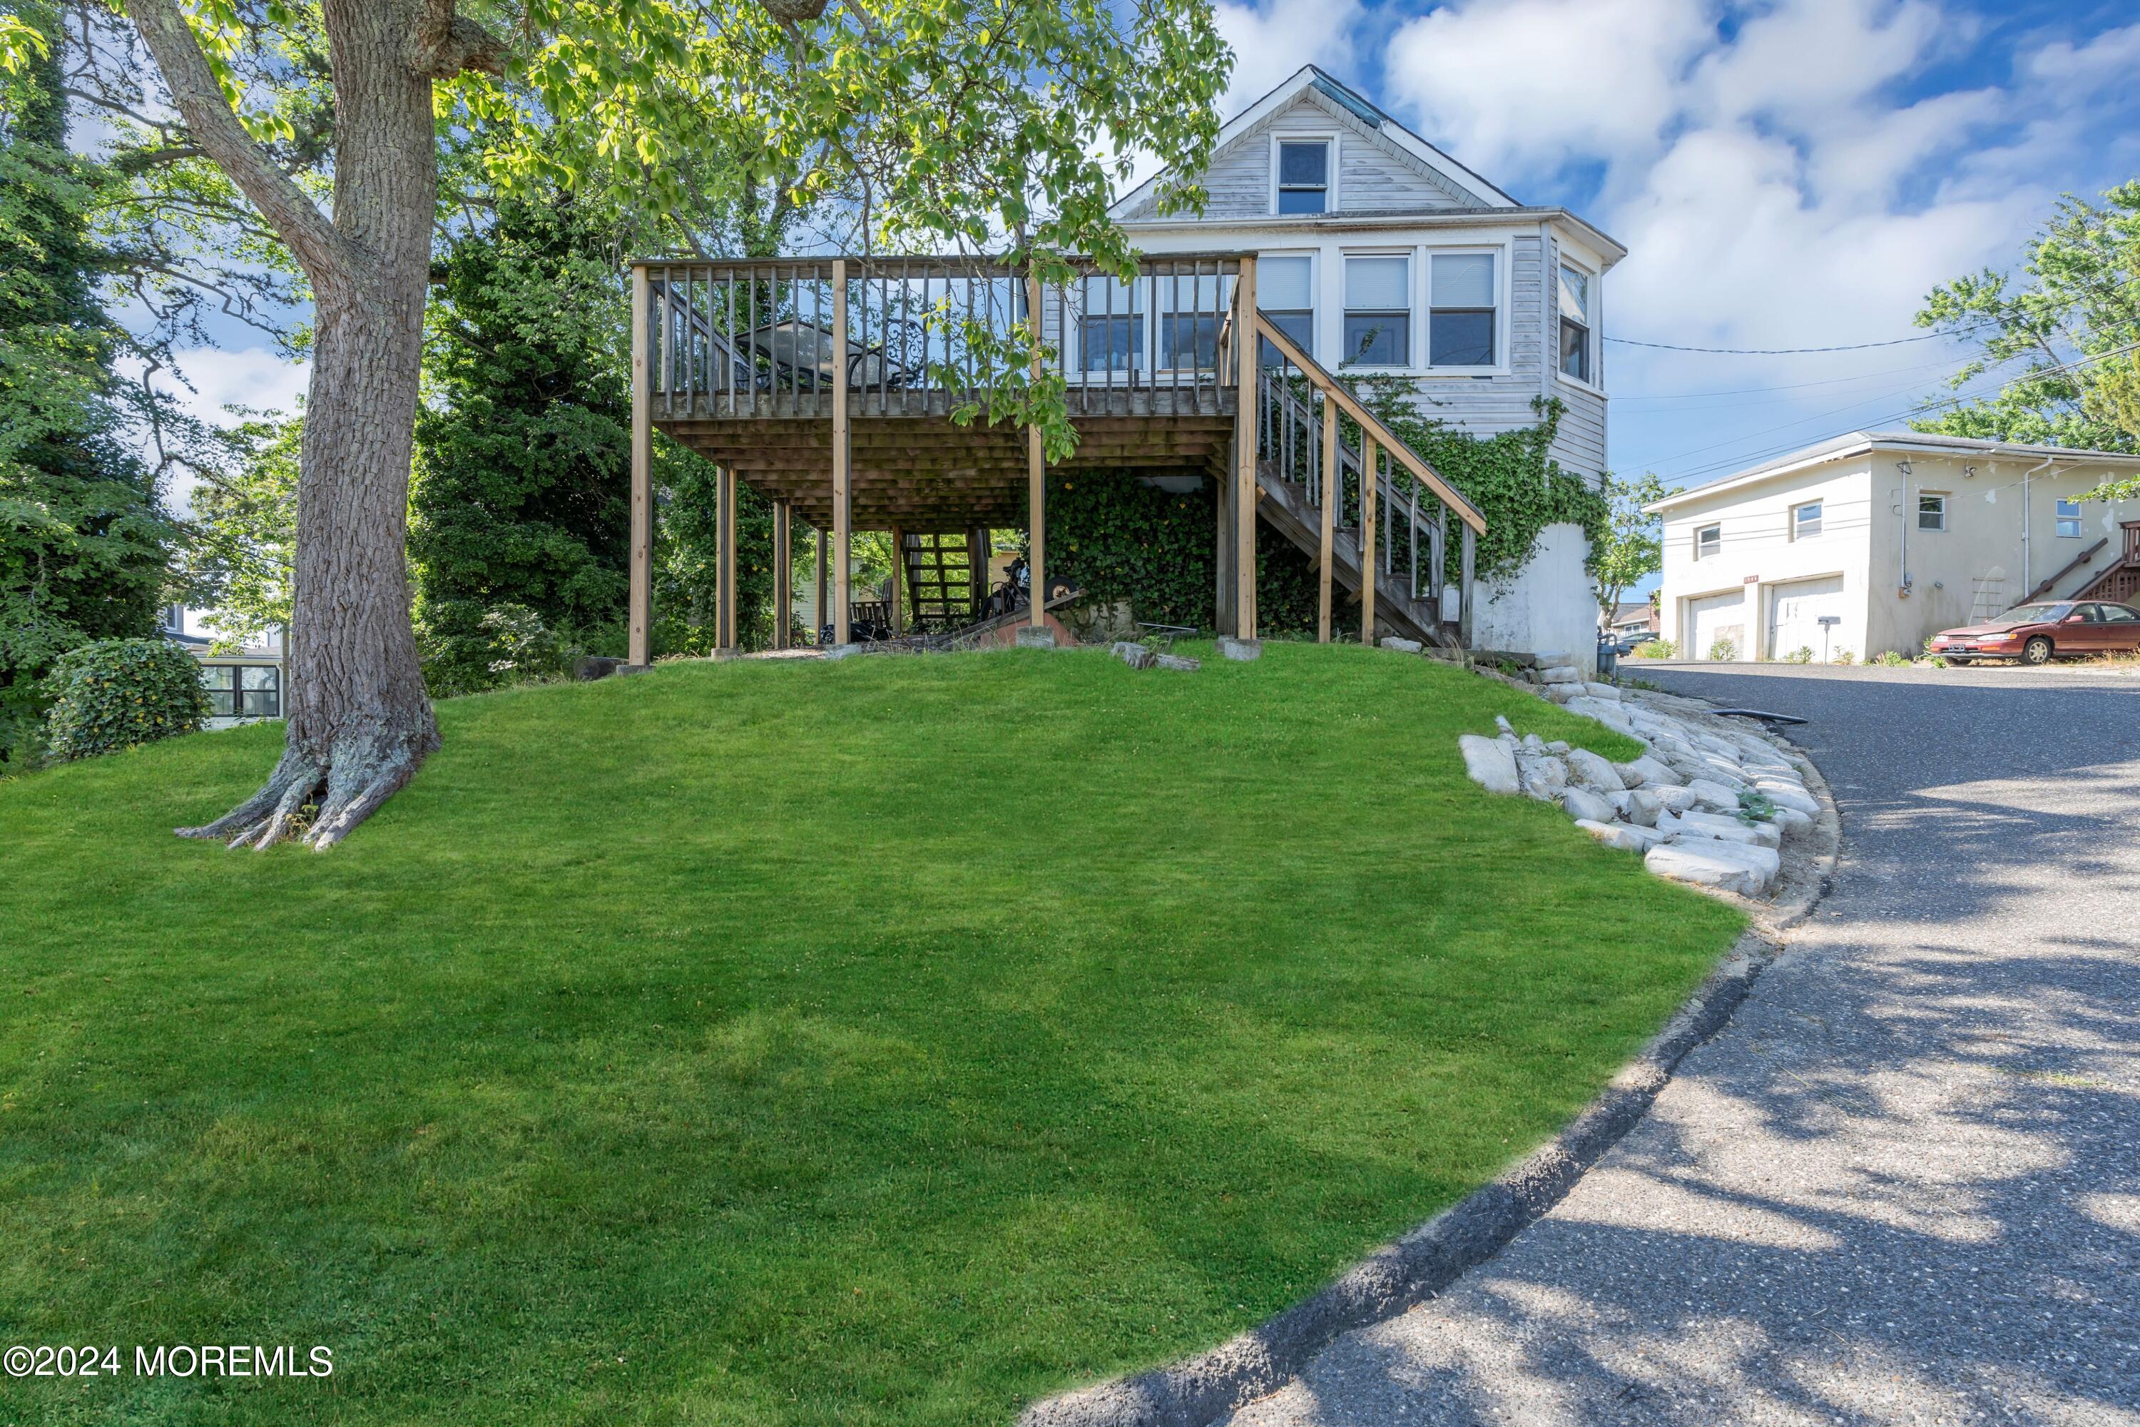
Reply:
[[156, 629], [173, 537], [122, 439], [88, 223], [105, 175], [66, 152], [56, 17], [11, 17], [47, 41], [0, 77], [0, 762], [21, 757], [60, 655]]

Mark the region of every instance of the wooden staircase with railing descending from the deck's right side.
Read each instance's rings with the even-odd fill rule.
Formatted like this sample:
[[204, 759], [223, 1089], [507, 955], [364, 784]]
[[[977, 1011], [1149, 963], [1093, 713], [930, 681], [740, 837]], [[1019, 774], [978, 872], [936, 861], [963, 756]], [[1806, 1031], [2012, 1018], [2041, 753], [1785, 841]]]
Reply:
[[1462, 650], [1479, 509], [1284, 332], [1260, 314], [1256, 327], [1278, 357], [1256, 372], [1256, 513], [1318, 571], [1329, 561], [1329, 584], [1352, 597], [1363, 635], [1372, 625]]

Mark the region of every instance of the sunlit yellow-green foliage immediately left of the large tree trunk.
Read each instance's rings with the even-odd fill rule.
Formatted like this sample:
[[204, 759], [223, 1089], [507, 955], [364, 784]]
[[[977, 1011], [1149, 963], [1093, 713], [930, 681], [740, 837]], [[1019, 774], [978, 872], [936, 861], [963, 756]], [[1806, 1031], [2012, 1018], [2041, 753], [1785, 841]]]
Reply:
[[259, 644], [289, 625], [302, 439], [302, 417], [246, 421], [235, 458], [201, 469], [193, 490], [182, 586], [225, 640]]

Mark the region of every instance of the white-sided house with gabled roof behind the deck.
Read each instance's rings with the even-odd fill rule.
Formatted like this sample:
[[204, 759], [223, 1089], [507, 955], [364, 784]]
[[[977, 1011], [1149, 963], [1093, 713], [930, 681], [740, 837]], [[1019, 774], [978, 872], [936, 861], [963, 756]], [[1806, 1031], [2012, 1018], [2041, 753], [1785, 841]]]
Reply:
[[[1256, 252], [1256, 306], [1327, 368], [1412, 381], [1474, 434], [1560, 402], [1562, 469], [1605, 469], [1605, 274], [1626, 248], [1564, 208], [1528, 208], [1316, 66], [1220, 131], [1201, 216], [1162, 216], [1158, 175], [1113, 216], [1145, 252]], [[1549, 526], [1483, 582], [1472, 644], [1594, 653], [1577, 526]]]

